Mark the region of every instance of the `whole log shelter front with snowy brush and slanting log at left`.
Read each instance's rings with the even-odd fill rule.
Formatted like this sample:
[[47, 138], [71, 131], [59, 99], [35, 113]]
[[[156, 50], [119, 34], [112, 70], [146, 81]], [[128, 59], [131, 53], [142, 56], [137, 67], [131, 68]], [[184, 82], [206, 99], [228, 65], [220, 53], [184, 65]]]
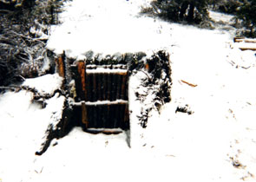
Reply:
[[[45, 141], [37, 155], [43, 154], [50, 141], [69, 133], [72, 127], [84, 131], [104, 131], [104, 128], [129, 130], [129, 77], [141, 73], [136, 98], [141, 101], [141, 127], [147, 127], [148, 116], [155, 109], [171, 101], [171, 68], [169, 55], [158, 51], [151, 56], [144, 53], [91, 56], [86, 60], [68, 58], [65, 53], [56, 58], [56, 72], [62, 76], [65, 101], [62, 119], [49, 127]], [[103, 132], [104, 133], [104, 132]]]

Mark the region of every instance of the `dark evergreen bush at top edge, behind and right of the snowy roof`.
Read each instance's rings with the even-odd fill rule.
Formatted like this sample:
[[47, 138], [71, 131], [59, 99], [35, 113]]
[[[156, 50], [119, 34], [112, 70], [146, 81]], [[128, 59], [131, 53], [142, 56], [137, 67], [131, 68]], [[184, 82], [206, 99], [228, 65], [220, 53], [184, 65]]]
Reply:
[[158, 16], [174, 22], [201, 23], [208, 18], [208, 0], [155, 0]]

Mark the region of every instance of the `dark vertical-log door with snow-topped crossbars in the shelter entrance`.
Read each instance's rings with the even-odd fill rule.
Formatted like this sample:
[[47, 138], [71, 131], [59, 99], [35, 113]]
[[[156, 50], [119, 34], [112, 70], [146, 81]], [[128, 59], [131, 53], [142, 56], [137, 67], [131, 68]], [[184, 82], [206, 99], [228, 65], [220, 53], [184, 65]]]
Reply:
[[[72, 66], [75, 114], [83, 129], [129, 128], [128, 69], [126, 65]], [[89, 129], [90, 128], [90, 129]]]

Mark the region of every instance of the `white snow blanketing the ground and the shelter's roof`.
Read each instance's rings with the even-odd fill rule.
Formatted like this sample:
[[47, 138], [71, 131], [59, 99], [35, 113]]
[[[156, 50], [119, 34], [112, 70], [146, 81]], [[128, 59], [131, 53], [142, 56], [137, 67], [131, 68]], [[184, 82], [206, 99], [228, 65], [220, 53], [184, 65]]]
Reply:
[[[30, 92], [2, 94], [0, 181], [256, 180], [255, 52], [236, 49], [233, 31], [141, 16], [143, 4], [147, 1], [73, 0], [66, 4], [63, 23], [53, 29], [48, 46], [78, 58], [89, 50], [107, 55], [166, 49], [173, 69], [172, 101], [161, 114], [154, 112], [142, 129], [136, 117], [140, 103], [134, 101], [141, 75], [133, 75], [131, 147], [126, 133], [93, 135], [76, 127], [36, 156], [49, 122], [59, 117], [63, 98], [56, 95], [42, 108], [31, 103]], [[212, 15], [226, 23], [231, 18]], [[46, 75], [24, 85], [47, 93], [60, 87], [59, 81], [57, 75]], [[186, 105], [194, 114], [175, 113]]]

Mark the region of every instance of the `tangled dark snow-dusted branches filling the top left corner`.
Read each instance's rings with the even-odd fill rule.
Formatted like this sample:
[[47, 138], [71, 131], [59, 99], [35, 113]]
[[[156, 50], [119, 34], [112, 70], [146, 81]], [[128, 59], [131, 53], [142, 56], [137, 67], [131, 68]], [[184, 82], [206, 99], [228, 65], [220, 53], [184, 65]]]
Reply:
[[0, 0], [0, 86], [45, 74], [49, 25], [64, 1]]

